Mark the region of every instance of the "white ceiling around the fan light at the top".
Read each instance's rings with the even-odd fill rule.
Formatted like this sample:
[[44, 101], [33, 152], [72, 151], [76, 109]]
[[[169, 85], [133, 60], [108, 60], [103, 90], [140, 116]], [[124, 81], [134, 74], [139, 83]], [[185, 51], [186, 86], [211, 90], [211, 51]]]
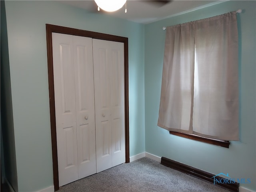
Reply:
[[[71, 6], [83, 8], [89, 12], [98, 12], [94, 0], [63, 0], [61, 1]], [[198, 8], [210, 6], [224, 2], [222, 0], [173, 0], [165, 6], [156, 6], [152, 2], [144, 0], [127, 0], [127, 13], [124, 13], [125, 6], [116, 12], [98, 12], [108, 14], [117, 18], [123, 18], [138, 23], [150, 23], [170, 16], [188, 12]]]

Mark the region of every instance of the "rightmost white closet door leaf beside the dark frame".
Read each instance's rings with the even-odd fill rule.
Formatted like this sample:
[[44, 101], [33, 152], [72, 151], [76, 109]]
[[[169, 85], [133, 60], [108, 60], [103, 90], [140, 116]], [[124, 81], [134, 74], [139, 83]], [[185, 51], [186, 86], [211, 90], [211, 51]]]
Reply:
[[112, 166], [125, 162], [124, 133], [124, 43], [110, 42], [112, 58], [111, 122]]

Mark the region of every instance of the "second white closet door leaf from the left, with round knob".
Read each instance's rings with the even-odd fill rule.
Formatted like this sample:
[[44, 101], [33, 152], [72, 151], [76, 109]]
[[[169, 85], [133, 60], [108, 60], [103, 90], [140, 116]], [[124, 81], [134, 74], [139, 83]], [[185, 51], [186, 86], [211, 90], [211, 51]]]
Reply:
[[92, 38], [73, 36], [79, 179], [96, 173]]

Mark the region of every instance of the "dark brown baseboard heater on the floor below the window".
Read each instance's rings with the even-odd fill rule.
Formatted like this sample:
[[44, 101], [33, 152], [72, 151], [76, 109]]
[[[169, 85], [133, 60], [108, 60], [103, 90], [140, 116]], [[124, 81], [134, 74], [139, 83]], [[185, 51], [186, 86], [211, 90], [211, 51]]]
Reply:
[[[225, 179], [220, 176], [215, 176], [214, 174], [202, 171], [200, 169], [176, 162], [174, 160], [170, 160], [168, 158], [162, 157], [161, 158], [161, 164], [170, 167], [172, 169], [178, 170], [180, 172], [186, 173], [190, 176], [196, 177], [198, 179], [210, 182], [214, 184], [214, 178], [217, 180]], [[239, 192], [239, 183], [221, 183], [221, 182], [215, 182], [215, 185], [220, 186], [222, 188], [225, 188], [232, 192]]]

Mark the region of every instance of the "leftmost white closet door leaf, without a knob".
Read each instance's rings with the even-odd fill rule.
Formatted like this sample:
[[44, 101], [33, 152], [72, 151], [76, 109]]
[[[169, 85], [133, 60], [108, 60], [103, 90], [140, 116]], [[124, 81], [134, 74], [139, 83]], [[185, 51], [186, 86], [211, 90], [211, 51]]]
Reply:
[[76, 99], [71, 35], [52, 33], [59, 185], [78, 180]]

